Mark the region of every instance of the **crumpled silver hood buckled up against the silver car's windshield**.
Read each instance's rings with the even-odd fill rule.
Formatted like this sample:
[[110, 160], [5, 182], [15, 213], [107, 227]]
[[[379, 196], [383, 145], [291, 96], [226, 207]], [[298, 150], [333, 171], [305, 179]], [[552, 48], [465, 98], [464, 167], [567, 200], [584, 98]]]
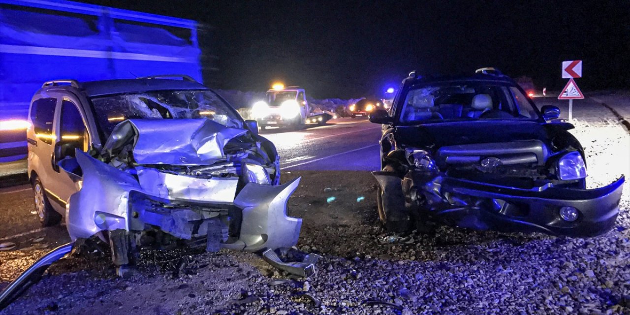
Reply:
[[130, 119], [112, 130], [103, 152], [115, 156], [131, 144], [138, 164], [210, 165], [225, 159], [223, 147], [246, 132], [206, 118]]

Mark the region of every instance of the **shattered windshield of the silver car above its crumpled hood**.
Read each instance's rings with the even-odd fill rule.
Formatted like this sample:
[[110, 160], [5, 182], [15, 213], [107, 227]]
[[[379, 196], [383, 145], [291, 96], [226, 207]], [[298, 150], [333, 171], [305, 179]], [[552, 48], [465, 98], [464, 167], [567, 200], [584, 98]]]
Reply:
[[103, 136], [130, 118], [207, 118], [227, 127], [243, 128], [238, 113], [210, 90], [149, 91], [91, 99]]

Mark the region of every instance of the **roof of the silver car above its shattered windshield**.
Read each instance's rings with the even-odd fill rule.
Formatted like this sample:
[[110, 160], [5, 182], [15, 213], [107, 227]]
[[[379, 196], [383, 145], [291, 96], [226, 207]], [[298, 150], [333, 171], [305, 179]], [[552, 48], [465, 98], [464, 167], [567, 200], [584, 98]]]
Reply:
[[88, 96], [112, 95], [165, 89], [207, 89], [198, 82], [176, 79], [115, 79], [81, 82]]

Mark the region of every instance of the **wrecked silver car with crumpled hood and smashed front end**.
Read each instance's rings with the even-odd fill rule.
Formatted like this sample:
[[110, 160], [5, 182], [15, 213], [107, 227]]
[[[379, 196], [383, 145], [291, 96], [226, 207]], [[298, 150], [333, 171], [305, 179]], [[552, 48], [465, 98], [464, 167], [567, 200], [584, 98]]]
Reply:
[[299, 178], [280, 185], [272, 142], [187, 76], [50, 81], [30, 106], [28, 174], [44, 226], [98, 236], [115, 265], [145, 244], [294, 246]]

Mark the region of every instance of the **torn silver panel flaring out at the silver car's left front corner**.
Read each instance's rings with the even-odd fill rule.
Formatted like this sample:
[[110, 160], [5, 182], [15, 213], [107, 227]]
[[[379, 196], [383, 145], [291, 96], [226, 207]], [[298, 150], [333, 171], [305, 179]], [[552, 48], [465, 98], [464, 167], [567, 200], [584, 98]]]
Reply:
[[134, 176], [77, 151], [83, 185], [66, 207], [70, 238], [89, 238], [100, 231], [129, 231], [129, 192], [141, 191]]

